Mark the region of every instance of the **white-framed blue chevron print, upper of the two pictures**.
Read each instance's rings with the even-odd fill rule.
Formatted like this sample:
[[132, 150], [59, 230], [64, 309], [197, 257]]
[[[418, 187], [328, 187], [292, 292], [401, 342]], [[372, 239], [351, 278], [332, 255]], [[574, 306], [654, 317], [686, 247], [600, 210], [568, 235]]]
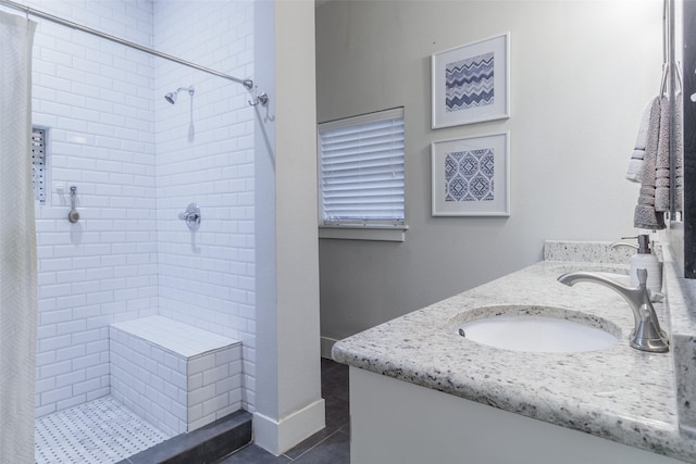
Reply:
[[435, 53], [433, 128], [510, 117], [510, 33]]

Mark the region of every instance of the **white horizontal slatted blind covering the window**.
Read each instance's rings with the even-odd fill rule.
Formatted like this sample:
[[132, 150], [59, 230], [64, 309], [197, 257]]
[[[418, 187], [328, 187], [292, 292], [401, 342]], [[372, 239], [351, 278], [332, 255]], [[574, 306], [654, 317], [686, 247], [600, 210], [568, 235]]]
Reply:
[[323, 225], [402, 225], [403, 109], [319, 126]]

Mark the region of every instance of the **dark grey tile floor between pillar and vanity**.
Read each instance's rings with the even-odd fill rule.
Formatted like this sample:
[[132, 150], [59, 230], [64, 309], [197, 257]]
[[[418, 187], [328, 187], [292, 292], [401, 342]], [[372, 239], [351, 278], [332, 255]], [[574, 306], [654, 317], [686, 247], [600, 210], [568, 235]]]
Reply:
[[322, 398], [326, 407], [326, 428], [323, 430], [279, 456], [251, 444], [217, 464], [349, 464], [350, 416], [347, 365], [322, 358]]

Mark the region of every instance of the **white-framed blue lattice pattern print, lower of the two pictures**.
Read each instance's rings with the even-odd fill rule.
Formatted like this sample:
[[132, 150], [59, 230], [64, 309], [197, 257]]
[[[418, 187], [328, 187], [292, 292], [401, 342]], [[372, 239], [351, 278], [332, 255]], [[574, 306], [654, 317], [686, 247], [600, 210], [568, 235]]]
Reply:
[[510, 133], [435, 141], [433, 216], [510, 215]]

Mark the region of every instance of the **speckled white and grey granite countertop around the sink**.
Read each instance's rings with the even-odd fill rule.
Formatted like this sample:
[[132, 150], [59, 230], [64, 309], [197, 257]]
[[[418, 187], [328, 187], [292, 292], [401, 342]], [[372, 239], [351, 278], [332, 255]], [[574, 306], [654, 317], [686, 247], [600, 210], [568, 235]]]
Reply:
[[[570, 271], [625, 274], [627, 266], [598, 263], [596, 256], [592, 256], [594, 263], [549, 261], [568, 258], [554, 253], [546, 258], [344, 339], [334, 346], [333, 358], [505, 411], [696, 462], [696, 439], [680, 431], [678, 423], [672, 353], [647, 353], [629, 346], [633, 314], [618, 293], [596, 284], [571, 288], [556, 280]], [[616, 324], [621, 339], [600, 351], [527, 353], [487, 347], [457, 334], [457, 323], [467, 312], [505, 305], [581, 311]], [[667, 330], [663, 304], [655, 308]]]

